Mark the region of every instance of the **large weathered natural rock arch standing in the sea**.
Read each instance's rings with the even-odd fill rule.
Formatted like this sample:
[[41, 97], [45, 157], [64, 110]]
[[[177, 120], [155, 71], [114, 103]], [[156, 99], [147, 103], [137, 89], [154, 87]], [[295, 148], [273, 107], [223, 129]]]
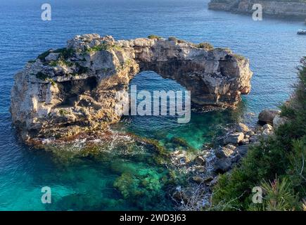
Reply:
[[[130, 79], [144, 70], [174, 79], [198, 105], [235, 107], [250, 91], [249, 62], [227, 49], [201, 49], [185, 41], [84, 34], [49, 50], [15, 75], [13, 124], [27, 143], [104, 131], [122, 115]], [[119, 97], [118, 97], [119, 96]]]

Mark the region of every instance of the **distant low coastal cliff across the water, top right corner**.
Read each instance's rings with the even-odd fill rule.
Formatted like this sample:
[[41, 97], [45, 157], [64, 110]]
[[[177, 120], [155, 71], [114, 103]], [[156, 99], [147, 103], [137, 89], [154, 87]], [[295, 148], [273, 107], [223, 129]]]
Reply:
[[208, 8], [233, 13], [253, 13], [254, 4], [262, 5], [264, 15], [276, 17], [306, 18], [306, 1], [304, 0], [211, 0]]

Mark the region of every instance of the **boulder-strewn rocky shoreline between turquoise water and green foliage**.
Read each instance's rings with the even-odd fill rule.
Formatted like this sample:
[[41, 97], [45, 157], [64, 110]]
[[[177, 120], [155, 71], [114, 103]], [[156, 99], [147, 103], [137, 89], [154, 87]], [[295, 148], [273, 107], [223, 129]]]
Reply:
[[274, 129], [286, 122], [279, 110], [262, 110], [255, 128], [238, 123], [229, 127], [226, 134], [218, 137], [217, 146], [203, 146], [190, 160], [186, 152], [174, 151], [171, 162], [177, 170], [187, 174], [187, 184], [172, 191], [172, 199], [178, 210], [209, 209], [212, 188], [219, 174], [231, 172], [239, 165], [251, 146], [266, 141], [274, 135]]

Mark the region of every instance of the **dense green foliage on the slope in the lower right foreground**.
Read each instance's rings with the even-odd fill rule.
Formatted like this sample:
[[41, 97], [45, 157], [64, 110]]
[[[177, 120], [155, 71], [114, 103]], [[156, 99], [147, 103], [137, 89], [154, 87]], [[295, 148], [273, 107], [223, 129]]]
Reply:
[[[306, 210], [306, 58], [301, 63], [295, 94], [281, 106], [288, 122], [253, 146], [240, 167], [219, 177], [212, 210]], [[255, 186], [264, 190], [262, 204], [252, 201]]]

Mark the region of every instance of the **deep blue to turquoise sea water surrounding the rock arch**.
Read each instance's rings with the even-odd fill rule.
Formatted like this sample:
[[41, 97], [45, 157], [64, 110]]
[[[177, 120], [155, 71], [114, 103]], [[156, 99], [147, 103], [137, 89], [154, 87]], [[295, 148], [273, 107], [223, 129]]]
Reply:
[[[166, 198], [158, 203], [152, 201], [155, 193], [162, 195], [164, 191], [160, 180], [165, 169], [148, 160], [151, 153], [147, 151], [127, 157], [114, 150], [110, 155], [101, 154], [98, 160], [77, 158], [62, 162], [52, 153], [29, 149], [18, 141], [8, 112], [13, 75], [42, 51], [63, 47], [67, 39], [77, 34], [111, 34], [115, 39], [157, 34], [194, 42], [208, 41], [250, 58], [253, 88], [238, 110], [193, 113], [189, 124], [177, 124], [168, 117], [126, 117], [116, 127], [162, 143], [179, 136], [200, 148], [210, 140], [218, 125], [241, 117], [253, 124], [256, 118], [248, 113], [257, 115], [262, 108], [275, 108], [286, 100], [295, 82], [295, 67], [306, 50], [306, 37], [296, 35], [298, 29], [305, 27], [302, 22], [271, 18], [254, 22], [248, 15], [208, 11], [208, 0], [48, 2], [52, 6], [52, 20], [44, 22], [40, 18], [44, 1], [0, 0], [0, 210], [171, 208]], [[149, 90], [160, 86], [181, 89], [178, 84], [158, 75], [148, 76], [147, 72], [135, 77], [132, 84]], [[135, 178], [139, 176], [140, 180]], [[120, 177], [145, 190], [148, 199], [135, 198], [132, 195], [135, 190], [129, 194], [136, 202], [124, 198], [114, 188], [114, 182]], [[139, 181], [144, 180], [153, 188], [143, 188]], [[52, 189], [51, 205], [41, 203], [42, 186]]]

